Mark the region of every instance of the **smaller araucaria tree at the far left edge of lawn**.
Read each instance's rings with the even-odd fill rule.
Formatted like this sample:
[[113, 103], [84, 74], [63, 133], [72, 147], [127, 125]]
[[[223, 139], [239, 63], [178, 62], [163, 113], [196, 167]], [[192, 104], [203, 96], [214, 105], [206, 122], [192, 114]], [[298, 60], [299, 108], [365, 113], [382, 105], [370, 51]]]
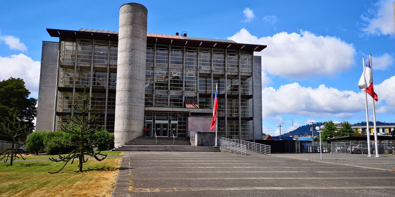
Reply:
[[12, 139], [11, 148], [5, 149], [3, 152], [0, 152], [0, 161], [4, 160], [4, 162], [7, 162], [8, 159], [10, 159], [10, 165], [12, 165], [12, 162], [16, 158], [19, 158], [19, 156], [21, 156], [21, 158], [24, 160], [26, 159], [22, 156], [22, 154], [28, 155], [27, 152], [25, 152], [21, 148], [14, 148], [14, 146], [15, 144], [23, 144], [23, 142], [21, 142], [21, 138], [32, 133], [32, 131], [28, 128], [28, 125], [24, 124], [23, 118], [19, 120], [17, 118], [18, 116], [19, 115], [14, 114], [12, 121], [10, 121], [8, 117], [6, 117], [5, 119], [7, 123], [0, 123], [0, 135]]

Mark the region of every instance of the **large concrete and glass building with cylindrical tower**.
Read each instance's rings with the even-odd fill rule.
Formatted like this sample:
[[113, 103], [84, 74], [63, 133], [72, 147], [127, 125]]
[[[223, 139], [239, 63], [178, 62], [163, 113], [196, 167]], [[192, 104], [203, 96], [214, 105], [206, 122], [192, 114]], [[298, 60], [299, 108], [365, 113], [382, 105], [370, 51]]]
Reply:
[[119, 32], [47, 29], [59, 41], [43, 42], [37, 129], [60, 130], [86, 85], [96, 105], [90, 114], [114, 132], [115, 146], [141, 136], [144, 125], [149, 136], [187, 137], [210, 131], [199, 125], [211, 122], [218, 83], [218, 132], [262, 139], [261, 57], [253, 52], [266, 46], [147, 33], [140, 4], [121, 6], [119, 24]]

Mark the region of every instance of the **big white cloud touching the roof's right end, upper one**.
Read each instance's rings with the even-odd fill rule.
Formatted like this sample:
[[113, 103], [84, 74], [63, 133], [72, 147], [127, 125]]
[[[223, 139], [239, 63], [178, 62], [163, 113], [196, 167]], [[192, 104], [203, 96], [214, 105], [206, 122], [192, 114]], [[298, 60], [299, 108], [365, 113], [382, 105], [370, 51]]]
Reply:
[[318, 36], [308, 31], [281, 32], [273, 36], [251, 35], [241, 29], [228, 39], [241, 43], [267, 45], [261, 52], [262, 69], [271, 75], [292, 79], [333, 76], [354, 65], [356, 50], [351, 43], [331, 36]]

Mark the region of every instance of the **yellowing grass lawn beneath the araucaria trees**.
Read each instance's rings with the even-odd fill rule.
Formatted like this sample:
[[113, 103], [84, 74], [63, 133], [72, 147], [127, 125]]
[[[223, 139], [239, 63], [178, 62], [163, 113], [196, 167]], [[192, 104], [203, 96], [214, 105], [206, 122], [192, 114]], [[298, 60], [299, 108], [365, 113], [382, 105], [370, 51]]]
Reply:
[[13, 166], [0, 162], [0, 195], [111, 196], [121, 161], [122, 158], [106, 158], [101, 162], [89, 159], [82, 173], [75, 161], [56, 174], [48, 172], [57, 171], [64, 162], [25, 161]]

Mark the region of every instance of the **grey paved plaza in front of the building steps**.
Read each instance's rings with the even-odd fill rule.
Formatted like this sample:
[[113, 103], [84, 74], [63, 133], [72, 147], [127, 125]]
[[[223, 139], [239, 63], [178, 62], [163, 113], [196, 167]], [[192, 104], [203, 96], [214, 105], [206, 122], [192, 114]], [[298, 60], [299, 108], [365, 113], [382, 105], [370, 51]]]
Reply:
[[393, 196], [394, 156], [125, 152], [113, 196]]

